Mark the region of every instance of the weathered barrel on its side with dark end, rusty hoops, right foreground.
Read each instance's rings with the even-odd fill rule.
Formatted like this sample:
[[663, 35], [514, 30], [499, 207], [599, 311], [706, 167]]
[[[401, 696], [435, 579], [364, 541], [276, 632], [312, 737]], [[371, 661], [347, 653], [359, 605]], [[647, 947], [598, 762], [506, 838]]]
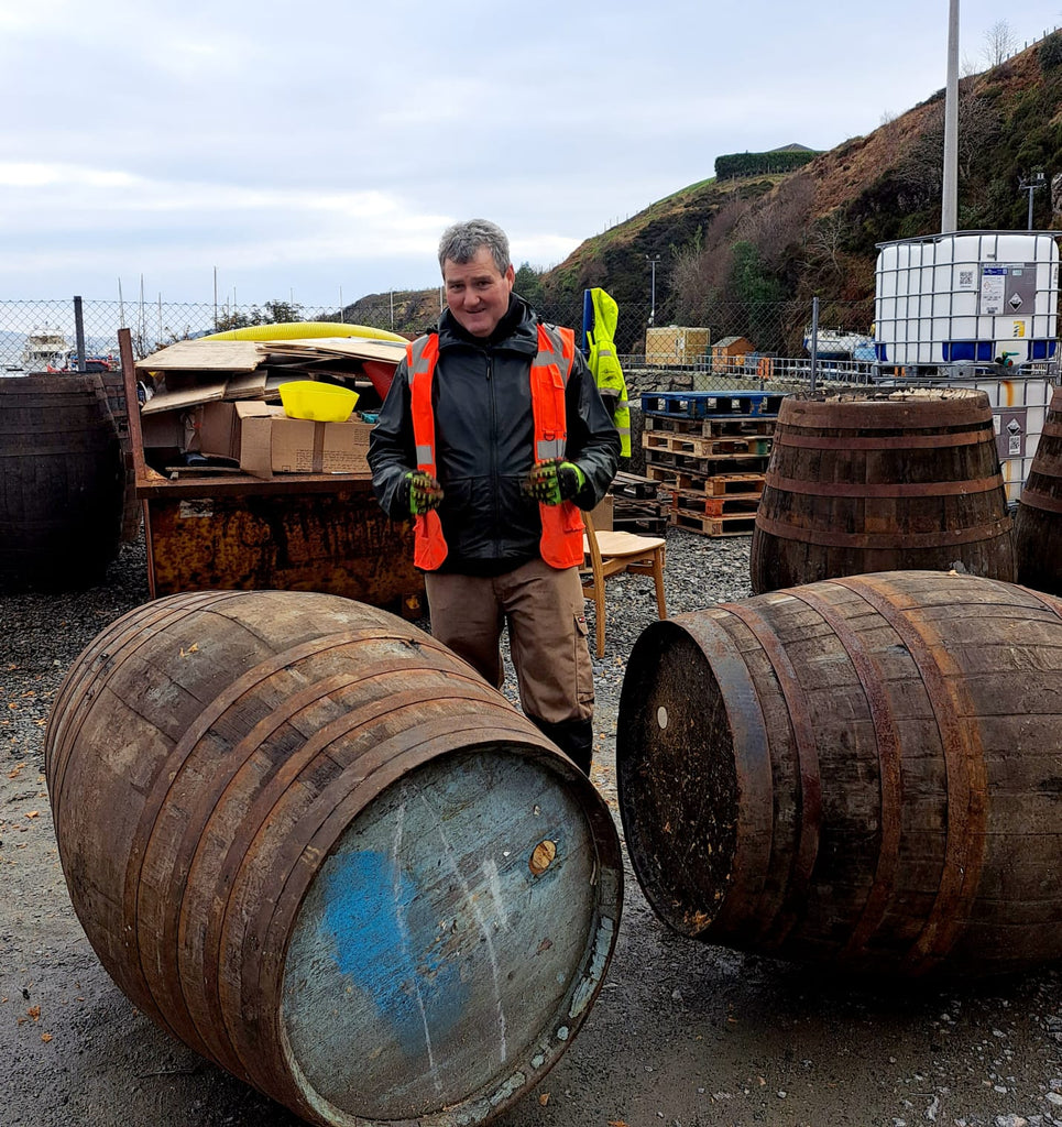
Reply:
[[891, 975], [1062, 955], [1062, 601], [891, 571], [639, 637], [617, 725], [635, 873], [675, 931]]

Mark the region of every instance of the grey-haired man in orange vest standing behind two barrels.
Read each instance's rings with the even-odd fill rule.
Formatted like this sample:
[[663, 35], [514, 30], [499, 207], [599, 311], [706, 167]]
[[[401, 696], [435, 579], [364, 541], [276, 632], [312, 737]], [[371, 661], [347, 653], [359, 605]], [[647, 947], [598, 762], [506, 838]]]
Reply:
[[525, 715], [588, 774], [578, 509], [608, 490], [619, 434], [574, 334], [513, 293], [501, 228], [454, 224], [439, 265], [446, 309], [395, 373], [369, 444], [373, 489], [392, 518], [415, 518], [432, 633], [501, 687], [507, 620]]

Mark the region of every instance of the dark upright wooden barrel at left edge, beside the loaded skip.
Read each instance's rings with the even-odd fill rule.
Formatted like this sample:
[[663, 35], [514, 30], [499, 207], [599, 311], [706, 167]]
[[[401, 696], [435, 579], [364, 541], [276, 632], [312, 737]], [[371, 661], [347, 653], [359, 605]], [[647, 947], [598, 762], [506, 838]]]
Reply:
[[99, 582], [118, 553], [124, 480], [98, 375], [0, 380], [0, 587]]

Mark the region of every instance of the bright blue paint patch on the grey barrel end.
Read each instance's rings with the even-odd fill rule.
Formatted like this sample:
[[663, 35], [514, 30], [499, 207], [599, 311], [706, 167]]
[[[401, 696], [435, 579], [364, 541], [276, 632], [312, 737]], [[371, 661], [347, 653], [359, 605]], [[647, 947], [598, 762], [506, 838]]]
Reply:
[[416, 881], [383, 853], [336, 855], [324, 877], [321, 926], [336, 965], [390, 1022], [402, 1053], [416, 1059], [425, 1042], [450, 1031], [468, 996], [460, 968], [436, 942], [434, 952], [418, 949], [437, 937], [439, 921]]

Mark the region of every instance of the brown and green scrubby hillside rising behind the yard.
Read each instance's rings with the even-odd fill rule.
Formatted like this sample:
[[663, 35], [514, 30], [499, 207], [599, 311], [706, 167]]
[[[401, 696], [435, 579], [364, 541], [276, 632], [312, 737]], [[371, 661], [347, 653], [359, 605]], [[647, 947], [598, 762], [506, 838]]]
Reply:
[[[604, 286], [620, 308], [648, 312], [646, 256], [660, 255], [656, 323], [745, 331], [755, 313], [791, 307], [759, 347], [794, 346], [812, 295], [823, 323], [866, 328], [873, 319], [876, 243], [940, 228], [944, 91], [874, 132], [850, 139], [797, 171], [745, 180], [703, 180], [651, 204], [587, 239], [558, 266], [532, 278], [529, 294], [546, 316], [576, 322], [582, 292]], [[1062, 170], [1062, 33], [959, 85], [959, 230], [1026, 227], [1020, 183]], [[1034, 195], [1034, 227], [1056, 225], [1051, 192]], [[439, 292], [402, 308], [402, 329], [434, 321]], [[348, 319], [388, 295], [364, 298]], [[720, 307], [726, 307], [725, 316]], [[740, 309], [737, 307], [741, 307]], [[620, 352], [639, 350], [644, 317], [628, 319]], [[620, 334], [625, 331], [621, 319]], [[751, 329], [750, 329], [751, 331]]]

